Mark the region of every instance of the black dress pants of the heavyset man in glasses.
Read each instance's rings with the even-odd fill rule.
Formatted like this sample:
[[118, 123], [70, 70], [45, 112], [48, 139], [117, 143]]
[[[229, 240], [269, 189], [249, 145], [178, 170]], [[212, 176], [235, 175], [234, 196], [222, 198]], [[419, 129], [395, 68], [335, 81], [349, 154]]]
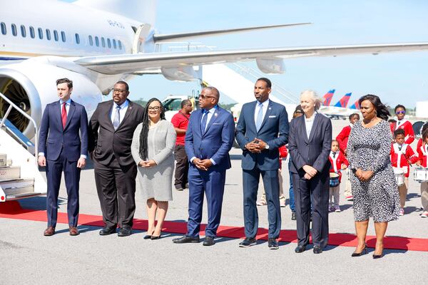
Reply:
[[136, 164], [121, 166], [116, 157], [108, 165], [95, 159], [93, 163], [103, 222], [107, 227], [132, 227], [136, 212]]

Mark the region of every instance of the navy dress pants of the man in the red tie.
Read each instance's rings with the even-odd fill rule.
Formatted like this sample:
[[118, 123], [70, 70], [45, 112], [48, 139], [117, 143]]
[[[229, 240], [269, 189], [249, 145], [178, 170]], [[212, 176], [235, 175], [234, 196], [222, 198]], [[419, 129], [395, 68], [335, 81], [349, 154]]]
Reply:
[[67, 160], [64, 150], [61, 150], [58, 160], [46, 159], [46, 178], [48, 180], [46, 212], [48, 214], [48, 227], [56, 227], [58, 193], [62, 172], [64, 172], [64, 180], [66, 181], [68, 225], [77, 227], [78, 182], [80, 180], [81, 169], [77, 167], [77, 161]]

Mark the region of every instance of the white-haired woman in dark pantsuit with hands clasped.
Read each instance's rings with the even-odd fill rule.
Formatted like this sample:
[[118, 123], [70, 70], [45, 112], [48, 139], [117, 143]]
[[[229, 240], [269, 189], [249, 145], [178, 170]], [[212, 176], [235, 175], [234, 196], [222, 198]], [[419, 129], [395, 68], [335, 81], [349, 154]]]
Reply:
[[290, 123], [288, 149], [292, 162], [292, 185], [297, 217], [296, 253], [305, 252], [309, 244], [310, 208], [312, 204], [313, 252], [322, 253], [328, 241], [328, 196], [332, 123], [316, 110], [320, 100], [315, 92], [304, 91], [300, 105], [305, 115]]

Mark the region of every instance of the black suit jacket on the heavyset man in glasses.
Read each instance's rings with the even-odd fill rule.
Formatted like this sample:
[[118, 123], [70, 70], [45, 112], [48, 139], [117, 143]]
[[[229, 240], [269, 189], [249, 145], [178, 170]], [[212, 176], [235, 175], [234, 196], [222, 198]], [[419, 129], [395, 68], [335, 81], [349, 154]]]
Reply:
[[113, 157], [119, 164], [127, 166], [135, 164], [131, 154], [131, 143], [134, 130], [143, 122], [143, 107], [131, 101], [121, 124], [116, 130], [111, 122], [113, 100], [101, 102], [93, 112], [89, 122], [89, 152], [92, 157], [103, 165], [108, 165]]

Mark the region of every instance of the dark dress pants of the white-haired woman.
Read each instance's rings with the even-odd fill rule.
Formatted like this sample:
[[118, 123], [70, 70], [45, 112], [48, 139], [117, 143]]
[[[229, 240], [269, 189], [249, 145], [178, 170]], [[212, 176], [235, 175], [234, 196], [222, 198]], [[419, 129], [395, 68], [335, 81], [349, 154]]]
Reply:
[[[325, 247], [328, 242], [329, 173], [318, 173], [310, 180], [292, 173], [297, 218], [297, 243], [309, 244], [310, 205], [312, 203], [312, 243]], [[311, 199], [312, 198], [312, 199]]]

